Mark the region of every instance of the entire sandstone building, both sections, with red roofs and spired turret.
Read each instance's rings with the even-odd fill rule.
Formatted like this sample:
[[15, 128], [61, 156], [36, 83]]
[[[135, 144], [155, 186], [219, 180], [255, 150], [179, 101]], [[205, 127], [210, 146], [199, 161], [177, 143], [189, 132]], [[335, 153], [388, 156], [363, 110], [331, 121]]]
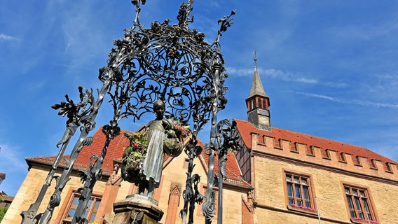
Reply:
[[[228, 154], [224, 223], [398, 223], [397, 162], [363, 147], [272, 127], [270, 98], [264, 92], [256, 66], [246, 106], [248, 119], [233, 120], [237, 127], [233, 134], [239, 137], [243, 148]], [[121, 180], [118, 168], [123, 148], [128, 146], [124, 132], [111, 141], [104, 159], [102, 179], [97, 181], [87, 209], [90, 222], [101, 223], [105, 214], [112, 213], [114, 202], [137, 191], [134, 184]], [[55, 209], [51, 223], [71, 221], [78, 197], [76, 190], [82, 186], [77, 169], [87, 169], [91, 153], [99, 155], [105, 141], [100, 131], [93, 137], [94, 143], [83, 148], [76, 160], [71, 181], [62, 193], [62, 204]], [[202, 177], [203, 194], [207, 159], [203, 154], [195, 160], [194, 172]], [[20, 212], [36, 199], [55, 156], [26, 161], [29, 173], [4, 223], [20, 223]], [[160, 188], [154, 193], [165, 211], [160, 223], [181, 223], [178, 214], [184, 206], [186, 167], [184, 153], [177, 158], [165, 158]], [[50, 195], [49, 190], [40, 212], [46, 208]], [[195, 223], [204, 223], [200, 207], [195, 214]]]

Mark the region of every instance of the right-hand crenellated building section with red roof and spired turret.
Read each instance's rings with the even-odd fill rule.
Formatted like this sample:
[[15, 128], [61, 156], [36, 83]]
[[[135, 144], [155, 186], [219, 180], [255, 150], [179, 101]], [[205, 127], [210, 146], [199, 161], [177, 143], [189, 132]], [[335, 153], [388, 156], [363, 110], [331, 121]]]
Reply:
[[270, 126], [254, 68], [248, 120], [235, 119], [254, 223], [398, 223], [397, 162], [359, 146]]

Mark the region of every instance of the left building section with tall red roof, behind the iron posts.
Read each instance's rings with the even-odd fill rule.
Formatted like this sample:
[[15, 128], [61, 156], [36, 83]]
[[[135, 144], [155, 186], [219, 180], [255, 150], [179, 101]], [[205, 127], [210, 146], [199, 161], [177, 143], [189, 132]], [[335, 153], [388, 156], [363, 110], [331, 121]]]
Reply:
[[[81, 178], [78, 176], [78, 170], [88, 169], [91, 153], [94, 155], [99, 155], [101, 153], [104, 141], [106, 140], [101, 130], [100, 128], [93, 135], [93, 144], [84, 147], [78, 155], [74, 165], [74, 171], [71, 174], [71, 180], [62, 191], [62, 202], [59, 207], [55, 208], [50, 223], [58, 224], [71, 222], [74, 211], [76, 211], [77, 208], [78, 197], [80, 196], [78, 188], [83, 187]], [[135, 186], [134, 183], [123, 181], [120, 174], [123, 149], [129, 145], [128, 138], [123, 136], [125, 132], [126, 131], [122, 131], [109, 145], [107, 156], [104, 158], [102, 166], [102, 179], [95, 184], [91, 200], [86, 209], [87, 213], [85, 218], [88, 219], [89, 223], [95, 221], [97, 223], [107, 223], [107, 221], [112, 221], [114, 202], [124, 200], [128, 195], [137, 193], [137, 186]], [[187, 142], [188, 141], [186, 141], [186, 143]], [[201, 146], [203, 146], [203, 144], [201, 144]], [[249, 191], [252, 190], [252, 186], [246, 181], [243, 181], [238, 162], [235, 160], [235, 155], [233, 155], [233, 153], [228, 153], [227, 156], [226, 174], [228, 175], [228, 179], [224, 181], [223, 220], [224, 223], [247, 223], [247, 220], [252, 220], [252, 214], [249, 212], [245, 202], [247, 202], [247, 195]], [[48, 156], [26, 159], [27, 165], [29, 166], [29, 173], [22, 183], [22, 186], [20, 186], [18, 193], [15, 195], [15, 200], [8, 209], [2, 224], [21, 223], [22, 217], [20, 213], [26, 211], [30, 204], [35, 202], [55, 158], [55, 156]], [[55, 175], [61, 175], [67, 160], [69, 160], [69, 155], [64, 156], [60, 168]], [[194, 160], [195, 169], [193, 169], [193, 173], [201, 177], [198, 188], [203, 195], [205, 195], [207, 190], [207, 160], [208, 157], [205, 153]], [[160, 223], [181, 223], [179, 212], [184, 207], [183, 191], [186, 184], [187, 168], [188, 157], [186, 157], [184, 153], [176, 158], [167, 157], [167, 155], [165, 155], [160, 186], [153, 193], [154, 199], [159, 202], [160, 209], [164, 211]], [[214, 169], [214, 172], [218, 174], [218, 169]], [[55, 186], [55, 183], [53, 183], [53, 185]], [[215, 189], [217, 194], [217, 188]], [[39, 208], [39, 213], [45, 211], [52, 193], [53, 188], [48, 188], [48, 193], [43, 199], [43, 203]], [[236, 206], [237, 203], [239, 203], [239, 206]], [[194, 221], [195, 223], [205, 223], [200, 205], [195, 209]], [[217, 221], [217, 210], [215, 212], [214, 221]]]

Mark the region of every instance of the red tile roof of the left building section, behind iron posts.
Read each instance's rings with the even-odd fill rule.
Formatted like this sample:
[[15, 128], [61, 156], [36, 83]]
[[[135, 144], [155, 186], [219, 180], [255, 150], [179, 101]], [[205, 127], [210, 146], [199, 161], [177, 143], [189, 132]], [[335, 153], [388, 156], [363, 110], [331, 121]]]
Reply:
[[[107, 155], [105, 156], [104, 162], [102, 165], [103, 174], [110, 175], [112, 173], [112, 171], [114, 169], [113, 160], [114, 159], [121, 160], [121, 158], [123, 156], [123, 149], [129, 145], [128, 138], [124, 137], [125, 132], [128, 132], [128, 131], [122, 130], [121, 134], [119, 134], [117, 137], [115, 137], [109, 144]], [[92, 142], [91, 146], [83, 147], [83, 149], [79, 153], [78, 158], [76, 159], [76, 162], [74, 164], [74, 169], [83, 169], [83, 170], [88, 169], [88, 165], [90, 164], [91, 153], [93, 155], [101, 155], [102, 148], [106, 141], [106, 137], [102, 133], [102, 127], [100, 127], [99, 130], [97, 130], [97, 132], [95, 132], [95, 134], [92, 136], [92, 138], [93, 138], [93, 142]], [[205, 148], [202, 142], [199, 141], [199, 144], [200, 144], [200, 146]], [[203, 153], [203, 155], [207, 162], [209, 159], [208, 155], [205, 155], [205, 153]], [[32, 161], [32, 162], [40, 162], [45, 165], [53, 165], [56, 158], [57, 158], [56, 156], [43, 156], [43, 157], [27, 158], [26, 160], [28, 163], [29, 163], [29, 161]], [[70, 158], [70, 155], [64, 155], [60, 162], [60, 166], [64, 167], [66, 165], [66, 162], [64, 159], [69, 160], [69, 158]], [[242, 186], [249, 186], [249, 184], [246, 183], [245, 181], [243, 181], [243, 179], [241, 177], [242, 174], [238, 167], [238, 162], [235, 159], [235, 155], [233, 155], [233, 153], [228, 153], [227, 158], [228, 158], [228, 160], [226, 162], [226, 174], [229, 179], [228, 181], [231, 183], [240, 184]], [[217, 166], [217, 164], [218, 164], [217, 156], [216, 156], [216, 160], [215, 160], [214, 164], [216, 165], [216, 166], [214, 166], [214, 173], [218, 175], [219, 170], [218, 170], [218, 166]]]

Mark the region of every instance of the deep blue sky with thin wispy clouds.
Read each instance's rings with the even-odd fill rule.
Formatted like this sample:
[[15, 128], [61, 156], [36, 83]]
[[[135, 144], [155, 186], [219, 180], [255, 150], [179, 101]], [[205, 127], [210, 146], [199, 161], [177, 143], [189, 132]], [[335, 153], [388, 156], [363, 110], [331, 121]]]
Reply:
[[[142, 24], [177, 22], [180, 3], [148, 0]], [[197, 0], [193, 7], [190, 27], [208, 42], [217, 20], [237, 9], [221, 36], [231, 76], [220, 119], [247, 118], [256, 50], [271, 125], [398, 161], [398, 1]], [[0, 190], [15, 195], [25, 158], [57, 155], [66, 119], [50, 106], [64, 94], [78, 99], [79, 85], [101, 87], [98, 69], [113, 39], [132, 26], [134, 10], [128, 0], [0, 0]], [[103, 106], [97, 127], [110, 119]], [[144, 122], [120, 126], [134, 131]]]

